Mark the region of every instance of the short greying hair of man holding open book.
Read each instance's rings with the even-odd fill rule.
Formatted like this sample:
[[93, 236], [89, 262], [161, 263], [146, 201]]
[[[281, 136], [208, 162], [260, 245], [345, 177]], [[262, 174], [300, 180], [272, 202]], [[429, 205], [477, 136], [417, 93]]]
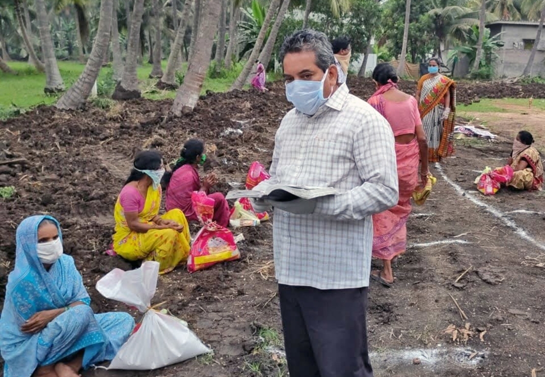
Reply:
[[312, 51], [316, 55], [316, 65], [326, 71], [331, 64], [335, 64], [333, 47], [328, 37], [312, 29], [303, 29], [296, 31], [284, 39], [280, 47], [280, 61], [284, 62], [284, 57], [288, 53]]

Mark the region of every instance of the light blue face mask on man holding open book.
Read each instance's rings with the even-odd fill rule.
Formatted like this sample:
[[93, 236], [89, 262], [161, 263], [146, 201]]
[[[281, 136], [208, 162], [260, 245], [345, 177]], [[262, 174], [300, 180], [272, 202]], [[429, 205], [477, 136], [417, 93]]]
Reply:
[[324, 82], [329, 68], [320, 81], [294, 80], [286, 84], [286, 98], [301, 113], [314, 115], [329, 98], [324, 98]]

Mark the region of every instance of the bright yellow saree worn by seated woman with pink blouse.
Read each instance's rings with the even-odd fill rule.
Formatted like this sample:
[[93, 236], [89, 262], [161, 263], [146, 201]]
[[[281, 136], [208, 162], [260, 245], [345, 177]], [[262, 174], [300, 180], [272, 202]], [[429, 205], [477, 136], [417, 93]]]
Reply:
[[[152, 223], [159, 214], [161, 206], [161, 187], [154, 190], [149, 186], [144, 209], [138, 214], [138, 220]], [[117, 199], [114, 209], [116, 228], [113, 235], [113, 250], [119, 256], [129, 260], [155, 260], [159, 262], [159, 273], [167, 273], [187, 260], [190, 249], [189, 225], [184, 212], [179, 209], [168, 211], [161, 218], [173, 220], [184, 226], [181, 232], [174, 229], [151, 229], [146, 233], [132, 231], [125, 219], [123, 206]]]

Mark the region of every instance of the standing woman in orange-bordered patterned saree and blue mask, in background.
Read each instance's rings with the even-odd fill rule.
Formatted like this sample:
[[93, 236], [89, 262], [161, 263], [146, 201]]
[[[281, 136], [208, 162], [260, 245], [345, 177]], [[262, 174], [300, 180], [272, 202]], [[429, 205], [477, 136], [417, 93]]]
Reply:
[[454, 153], [456, 83], [439, 73], [438, 58], [429, 59], [428, 72], [418, 82], [416, 101], [428, 137], [428, 160], [437, 162]]

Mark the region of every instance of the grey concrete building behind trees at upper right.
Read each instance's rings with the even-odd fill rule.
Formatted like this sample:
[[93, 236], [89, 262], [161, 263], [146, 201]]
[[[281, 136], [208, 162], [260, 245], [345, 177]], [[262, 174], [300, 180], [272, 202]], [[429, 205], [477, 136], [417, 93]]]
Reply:
[[[526, 21], [494, 21], [486, 27], [490, 29], [490, 37], [500, 35], [504, 46], [497, 52], [500, 59], [495, 62], [497, 77], [522, 76], [530, 51], [536, 39], [538, 22]], [[537, 46], [531, 76], [545, 76], [545, 35]]]

